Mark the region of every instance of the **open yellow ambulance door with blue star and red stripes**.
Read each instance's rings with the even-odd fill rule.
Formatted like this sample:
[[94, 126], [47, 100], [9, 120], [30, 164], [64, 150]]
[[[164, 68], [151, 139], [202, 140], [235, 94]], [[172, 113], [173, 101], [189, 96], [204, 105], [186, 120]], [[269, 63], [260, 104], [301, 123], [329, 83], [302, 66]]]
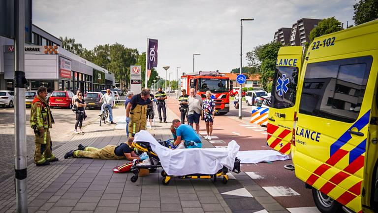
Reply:
[[274, 74], [269, 107], [267, 144], [284, 154], [291, 150], [302, 47], [281, 47]]

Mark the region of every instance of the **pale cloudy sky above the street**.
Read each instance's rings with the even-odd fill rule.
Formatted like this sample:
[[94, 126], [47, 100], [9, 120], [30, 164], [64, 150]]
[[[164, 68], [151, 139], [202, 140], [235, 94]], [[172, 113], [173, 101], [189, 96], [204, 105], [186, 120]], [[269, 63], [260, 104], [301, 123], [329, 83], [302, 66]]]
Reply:
[[[122, 43], [146, 51], [146, 39], [158, 39], [158, 72], [170, 66], [176, 77], [195, 70], [229, 72], [240, 66], [240, 18], [243, 55], [273, 40], [281, 27], [301, 18], [335, 16], [346, 26], [355, 0], [34, 0], [33, 23], [54, 36], [74, 37], [92, 49]], [[243, 56], [243, 58], [245, 58]], [[247, 61], [243, 60], [243, 66]], [[164, 74], [163, 74], [164, 73]]]

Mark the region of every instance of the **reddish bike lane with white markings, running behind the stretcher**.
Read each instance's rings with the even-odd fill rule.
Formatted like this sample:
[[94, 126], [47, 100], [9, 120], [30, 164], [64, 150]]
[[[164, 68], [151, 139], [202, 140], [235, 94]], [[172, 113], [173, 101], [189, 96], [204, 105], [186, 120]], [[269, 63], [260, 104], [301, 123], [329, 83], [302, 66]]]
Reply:
[[[166, 106], [180, 117], [178, 101], [174, 98], [166, 100]], [[212, 139], [215, 146], [225, 146], [235, 140], [240, 145], [240, 151], [267, 150], [266, 128], [243, 123], [231, 115], [216, 116], [213, 125]], [[168, 118], [168, 121], [171, 119]], [[186, 121], [187, 122], [187, 121]], [[200, 121], [200, 134], [206, 135], [204, 121]], [[257, 184], [271, 194], [285, 208], [314, 207], [311, 190], [304, 187], [304, 182], [295, 177], [293, 171], [285, 170], [284, 165], [291, 160], [275, 161], [258, 164], [242, 164], [242, 171], [250, 175]], [[252, 173], [251, 173], [252, 172]]]

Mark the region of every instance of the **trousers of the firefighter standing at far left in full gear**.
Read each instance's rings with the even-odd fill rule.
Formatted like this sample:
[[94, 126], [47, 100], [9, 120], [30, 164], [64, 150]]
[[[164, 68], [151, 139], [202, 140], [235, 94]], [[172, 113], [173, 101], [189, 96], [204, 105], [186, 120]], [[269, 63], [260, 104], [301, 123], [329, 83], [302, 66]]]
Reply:
[[36, 164], [42, 164], [55, 159], [52, 152], [53, 142], [51, 142], [50, 130], [48, 128], [43, 129], [42, 135], [34, 135], [34, 142], [34, 162]]

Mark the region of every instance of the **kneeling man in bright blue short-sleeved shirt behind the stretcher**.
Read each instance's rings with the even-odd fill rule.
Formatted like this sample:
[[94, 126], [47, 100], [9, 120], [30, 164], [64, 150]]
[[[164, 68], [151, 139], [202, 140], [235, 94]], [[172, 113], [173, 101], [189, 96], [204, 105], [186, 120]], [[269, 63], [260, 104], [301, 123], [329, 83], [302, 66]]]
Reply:
[[173, 127], [176, 129], [176, 141], [173, 145], [177, 148], [183, 148], [180, 144], [184, 141], [184, 146], [186, 148], [201, 148], [202, 142], [199, 136], [195, 133], [194, 129], [188, 124], [181, 124], [179, 119], [174, 119], [172, 121]]

